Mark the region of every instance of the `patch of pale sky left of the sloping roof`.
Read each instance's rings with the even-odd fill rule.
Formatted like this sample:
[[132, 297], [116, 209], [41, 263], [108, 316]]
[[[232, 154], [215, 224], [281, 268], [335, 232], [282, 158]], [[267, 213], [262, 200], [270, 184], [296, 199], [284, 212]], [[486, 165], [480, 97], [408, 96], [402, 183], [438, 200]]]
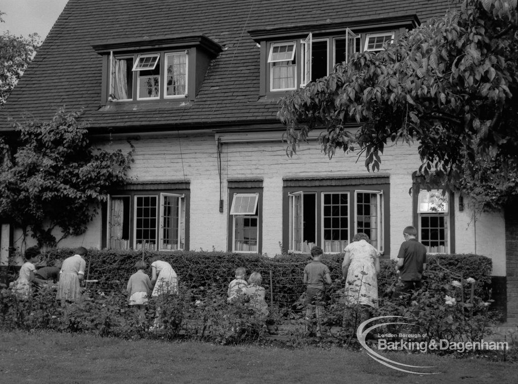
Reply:
[[9, 31], [11, 35], [27, 37], [36, 32], [41, 41], [54, 25], [68, 0], [1, 0], [0, 11], [4, 23], [0, 23], [0, 34]]

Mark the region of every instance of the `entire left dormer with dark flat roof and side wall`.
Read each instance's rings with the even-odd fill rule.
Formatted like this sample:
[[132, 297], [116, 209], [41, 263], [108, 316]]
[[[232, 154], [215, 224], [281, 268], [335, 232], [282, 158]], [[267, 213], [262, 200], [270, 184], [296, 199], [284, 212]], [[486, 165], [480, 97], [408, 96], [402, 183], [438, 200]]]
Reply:
[[133, 108], [128, 102], [184, 105], [194, 100], [210, 61], [222, 50], [204, 35], [115, 41], [93, 48], [103, 56], [105, 110]]

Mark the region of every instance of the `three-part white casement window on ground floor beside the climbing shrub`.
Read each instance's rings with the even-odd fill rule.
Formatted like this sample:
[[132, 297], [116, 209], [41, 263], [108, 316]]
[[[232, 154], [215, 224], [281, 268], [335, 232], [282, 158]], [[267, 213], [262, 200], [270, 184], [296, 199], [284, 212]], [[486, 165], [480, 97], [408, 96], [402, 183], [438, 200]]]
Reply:
[[185, 193], [132, 191], [111, 195], [107, 206], [110, 249], [185, 249]]

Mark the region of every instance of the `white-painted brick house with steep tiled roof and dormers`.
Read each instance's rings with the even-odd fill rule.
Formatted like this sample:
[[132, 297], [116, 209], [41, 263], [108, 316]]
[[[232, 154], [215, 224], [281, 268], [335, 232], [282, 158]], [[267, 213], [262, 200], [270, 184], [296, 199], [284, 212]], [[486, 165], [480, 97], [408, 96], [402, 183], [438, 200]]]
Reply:
[[[0, 130], [12, 129], [8, 117], [48, 119], [66, 106], [84, 109], [99, 145], [135, 146], [135, 180], [113, 191], [81, 239], [62, 246], [274, 256], [313, 244], [340, 252], [363, 231], [394, 258], [413, 224], [430, 253], [491, 257], [504, 296], [507, 276], [508, 317], [517, 321], [518, 257], [506, 258], [503, 213], [476, 214], [454, 194], [410, 195], [415, 147], [388, 147], [376, 173], [355, 155], [329, 160], [314, 140], [289, 158], [276, 117], [287, 92], [455, 6], [70, 0], [0, 112]], [[12, 231], [2, 225], [3, 263], [18, 238]]]

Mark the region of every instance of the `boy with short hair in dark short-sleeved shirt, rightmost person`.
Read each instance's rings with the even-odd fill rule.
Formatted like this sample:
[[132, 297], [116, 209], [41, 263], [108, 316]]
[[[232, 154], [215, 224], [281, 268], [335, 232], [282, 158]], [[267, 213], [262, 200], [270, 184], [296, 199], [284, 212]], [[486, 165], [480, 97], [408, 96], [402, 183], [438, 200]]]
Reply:
[[412, 226], [403, 230], [405, 241], [399, 248], [396, 264], [400, 284], [396, 285], [392, 298], [421, 288], [421, 278], [426, 269], [426, 247], [415, 238], [417, 234], [418, 231]]

